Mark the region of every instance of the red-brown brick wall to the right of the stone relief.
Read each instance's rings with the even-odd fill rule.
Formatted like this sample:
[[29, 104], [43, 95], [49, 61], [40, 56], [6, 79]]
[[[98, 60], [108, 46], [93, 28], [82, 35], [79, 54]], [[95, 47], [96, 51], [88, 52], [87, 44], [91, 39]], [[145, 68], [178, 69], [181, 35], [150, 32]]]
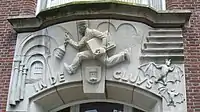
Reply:
[[183, 29], [188, 112], [200, 112], [200, 0], [167, 0], [167, 9], [189, 9]]

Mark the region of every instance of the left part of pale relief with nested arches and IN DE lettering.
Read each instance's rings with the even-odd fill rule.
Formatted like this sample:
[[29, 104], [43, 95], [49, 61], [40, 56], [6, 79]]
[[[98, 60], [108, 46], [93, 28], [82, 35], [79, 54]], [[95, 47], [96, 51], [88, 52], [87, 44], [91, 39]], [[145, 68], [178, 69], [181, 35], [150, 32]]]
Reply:
[[77, 29], [72, 29], [73, 25], [76, 26], [75, 22], [18, 35], [7, 110], [26, 111], [33, 95], [66, 80], [81, 80], [81, 75], [66, 79], [63, 69], [62, 60], [71, 60], [76, 53], [70, 46], [65, 49], [64, 45], [67, 28]]

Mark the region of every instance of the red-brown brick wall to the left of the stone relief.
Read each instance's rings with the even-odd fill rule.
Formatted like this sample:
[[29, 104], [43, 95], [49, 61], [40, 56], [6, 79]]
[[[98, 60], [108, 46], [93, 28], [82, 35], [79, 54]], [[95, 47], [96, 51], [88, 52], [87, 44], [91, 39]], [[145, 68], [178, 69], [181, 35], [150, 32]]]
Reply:
[[0, 0], [0, 112], [5, 112], [16, 33], [9, 16], [34, 15], [36, 0]]

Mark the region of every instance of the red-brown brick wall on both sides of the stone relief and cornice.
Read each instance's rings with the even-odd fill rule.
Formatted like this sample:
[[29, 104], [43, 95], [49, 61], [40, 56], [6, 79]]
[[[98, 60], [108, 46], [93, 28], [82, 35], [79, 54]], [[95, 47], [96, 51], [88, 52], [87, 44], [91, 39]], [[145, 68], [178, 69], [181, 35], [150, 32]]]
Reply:
[[[188, 112], [200, 112], [200, 0], [166, 0], [167, 9], [189, 9], [184, 28]], [[0, 0], [0, 112], [4, 112], [10, 83], [16, 33], [9, 16], [34, 15], [36, 0]]]

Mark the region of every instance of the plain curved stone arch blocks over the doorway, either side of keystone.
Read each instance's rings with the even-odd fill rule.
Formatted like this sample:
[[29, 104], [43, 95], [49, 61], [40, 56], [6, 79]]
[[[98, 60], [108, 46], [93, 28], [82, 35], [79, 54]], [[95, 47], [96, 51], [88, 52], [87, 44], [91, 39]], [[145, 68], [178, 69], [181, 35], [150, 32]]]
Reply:
[[[41, 112], [56, 112], [72, 105], [78, 105], [86, 102], [103, 101], [115, 103], [119, 102], [121, 104], [125, 104], [148, 112], [163, 112], [162, 98], [141, 88], [137, 88], [124, 83], [107, 81], [106, 98], [98, 99], [97, 97], [90, 97], [83, 93], [82, 86], [83, 85], [81, 82], [73, 82], [63, 83], [62, 85], [46, 89], [45, 91], [42, 91], [31, 97], [29, 106], [31, 109], [33, 109], [35, 108], [34, 104], [37, 104], [44, 109], [40, 110]], [[116, 93], [109, 93], [111, 91]], [[132, 97], [129, 97], [129, 95]], [[126, 99], [123, 99], [125, 97]], [[53, 102], [51, 102], [50, 99], [52, 99]], [[142, 101], [143, 99], [145, 99], [145, 101]], [[44, 103], [47, 101], [48, 103]], [[29, 111], [32, 112], [31, 110]]]

